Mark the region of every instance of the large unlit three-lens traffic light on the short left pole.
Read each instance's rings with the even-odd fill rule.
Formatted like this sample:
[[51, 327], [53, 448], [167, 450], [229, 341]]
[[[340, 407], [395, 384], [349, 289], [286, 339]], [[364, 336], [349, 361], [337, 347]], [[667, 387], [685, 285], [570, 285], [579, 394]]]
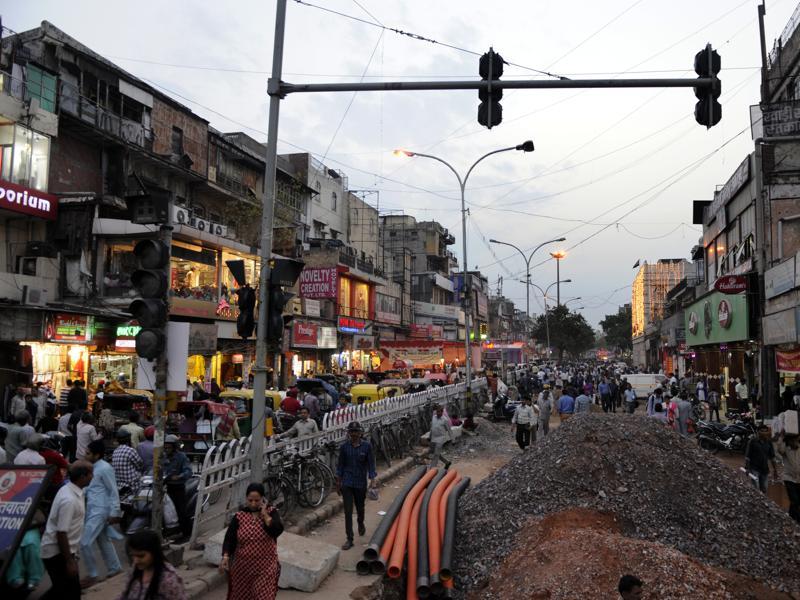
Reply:
[[131, 275], [131, 283], [141, 298], [131, 302], [128, 312], [142, 327], [136, 334], [136, 354], [152, 360], [166, 347], [169, 247], [159, 240], [141, 240], [133, 253], [139, 269]]

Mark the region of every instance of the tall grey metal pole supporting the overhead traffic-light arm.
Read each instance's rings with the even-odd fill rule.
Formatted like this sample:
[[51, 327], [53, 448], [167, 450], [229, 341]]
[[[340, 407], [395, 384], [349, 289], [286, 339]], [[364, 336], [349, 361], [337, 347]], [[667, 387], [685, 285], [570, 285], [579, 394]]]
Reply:
[[280, 113], [280, 80], [283, 66], [283, 39], [286, 27], [286, 0], [278, 0], [275, 11], [275, 42], [272, 49], [272, 77], [269, 79], [269, 124], [267, 154], [264, 167], [264, 197], [261, 213], [261, 276], [258, 283], [258, 330], [256, 332], [256, 364], [253, 367], [253, 416], [250, 434], [250, 477], [264, 480], [264, 415], [267, 386], [267, 315], [269, 279], [272, 258], [272, 222], [275, 212], [275, 168], [278, 160], [278, 116]]

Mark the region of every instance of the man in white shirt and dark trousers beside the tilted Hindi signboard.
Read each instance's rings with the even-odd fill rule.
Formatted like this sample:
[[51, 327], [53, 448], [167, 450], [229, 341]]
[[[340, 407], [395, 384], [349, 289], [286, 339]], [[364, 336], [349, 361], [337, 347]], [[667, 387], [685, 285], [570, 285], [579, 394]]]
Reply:
[[42, 536], [42, 560], [51, 587], [43, 600], [76, 600], [81, 597], [78, 574], [78, 549], [83, 535], [83, 490], [92, 482], [93, 467], [79, 460], [69, 468], [69, 483], [62, 486], [53, 500]]

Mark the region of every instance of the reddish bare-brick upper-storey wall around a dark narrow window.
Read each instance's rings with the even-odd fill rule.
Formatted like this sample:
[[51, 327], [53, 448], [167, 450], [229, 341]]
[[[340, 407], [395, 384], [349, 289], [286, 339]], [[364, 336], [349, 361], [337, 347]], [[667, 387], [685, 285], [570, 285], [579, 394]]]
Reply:
[[183, 151], [192, 159], [192, 171], [202, 176], [208, 171], [208, 123], [153, 98], [153, 152], [172, 153], [172, 128], [183, 131]]

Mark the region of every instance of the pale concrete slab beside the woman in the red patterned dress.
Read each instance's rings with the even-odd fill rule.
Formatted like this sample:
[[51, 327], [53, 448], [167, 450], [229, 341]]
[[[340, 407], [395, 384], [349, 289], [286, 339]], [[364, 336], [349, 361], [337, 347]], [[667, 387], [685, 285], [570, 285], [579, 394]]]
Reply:
[[336, 568], [339, 548], [284, 532], [278, 538], [278, 559], [281, 563], [278, 587], [315, 592]]

